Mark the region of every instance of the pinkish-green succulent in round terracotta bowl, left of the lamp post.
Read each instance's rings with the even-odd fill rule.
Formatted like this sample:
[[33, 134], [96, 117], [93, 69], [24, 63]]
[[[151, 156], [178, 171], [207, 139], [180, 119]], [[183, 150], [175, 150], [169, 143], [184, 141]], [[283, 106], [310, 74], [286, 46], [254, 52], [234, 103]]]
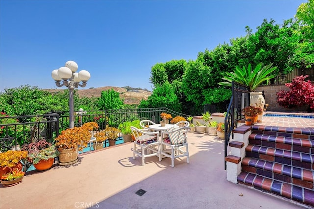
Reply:
[[59, 155], [55, 145], [52, 145], [45, 139], [26, 144], [23, 146], [23, 150], [28, 151], [27, 160], [33, 163], [34, 167], [39, 171], [51, 168], [54, 158]]

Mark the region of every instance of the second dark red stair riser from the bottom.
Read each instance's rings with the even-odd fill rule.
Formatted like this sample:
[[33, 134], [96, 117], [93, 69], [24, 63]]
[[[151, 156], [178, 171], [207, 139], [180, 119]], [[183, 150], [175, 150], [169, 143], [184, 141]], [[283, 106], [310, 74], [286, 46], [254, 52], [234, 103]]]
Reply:
[[289, 166], [293, 166], [293, 167], [299, 167], [299, 168], [314, 170], [314, 164], [312, 164], [312, 163], [301, 162], [298, 160], [288, 159], [288, 158], [284, 158], [284, 157], [274, 157], [274, 156], [259, 154], [259, 153], [250, 152], [250, 151], [246, 151], [246, 157], [253, 157], [253, 158], [263, 159], [263, 160], [267, 160], [267, 161], [271, 161], [271, 162], [277, 162], [277, 163], [281, 163], [281, 164], [289, 165]]

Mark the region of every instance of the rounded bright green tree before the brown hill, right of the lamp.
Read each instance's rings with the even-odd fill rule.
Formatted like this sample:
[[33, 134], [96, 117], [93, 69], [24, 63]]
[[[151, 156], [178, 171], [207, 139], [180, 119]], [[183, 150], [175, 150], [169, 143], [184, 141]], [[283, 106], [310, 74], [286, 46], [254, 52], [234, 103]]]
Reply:
[[123, 100], [120, 99], [119, 93], [113, 89], [102, 91], [101, 97], [98, 100], [98, 108], [105, 109], [120, 109], [123, 105]]

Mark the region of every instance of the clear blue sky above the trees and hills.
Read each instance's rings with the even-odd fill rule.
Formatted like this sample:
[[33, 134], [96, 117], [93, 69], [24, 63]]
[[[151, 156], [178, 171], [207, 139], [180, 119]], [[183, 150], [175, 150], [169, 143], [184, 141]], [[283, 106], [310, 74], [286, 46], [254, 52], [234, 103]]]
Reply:
[[265, 18], [282, 24], [303, 2], [1, 0], [0, 90], [58, 88], [51, 72], [68, 60], [90, 72], [84, 89], [152, 90], [156, 63], [195, 60]]

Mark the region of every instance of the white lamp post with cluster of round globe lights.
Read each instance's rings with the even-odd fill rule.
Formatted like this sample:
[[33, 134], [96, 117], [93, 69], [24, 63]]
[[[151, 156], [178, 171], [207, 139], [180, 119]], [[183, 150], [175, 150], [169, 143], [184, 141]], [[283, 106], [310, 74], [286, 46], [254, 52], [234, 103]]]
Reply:
[[[78, 88], [78, 86], [85, 87], [90, 78], [90, 73], [87, 70], [81, 70], [76, 73], [77, 70], [77, 63], [67, 61], [65, 67], [60, 67], [59, 69], [53, 70], [51, 73], [51, 77], [55, 80], [56, 86], [66, 86], [69, 89], [70, 128], [74, 127], [73, 90], [74, 88]], [[80, 81], [82, 81], [82, 84]]]

